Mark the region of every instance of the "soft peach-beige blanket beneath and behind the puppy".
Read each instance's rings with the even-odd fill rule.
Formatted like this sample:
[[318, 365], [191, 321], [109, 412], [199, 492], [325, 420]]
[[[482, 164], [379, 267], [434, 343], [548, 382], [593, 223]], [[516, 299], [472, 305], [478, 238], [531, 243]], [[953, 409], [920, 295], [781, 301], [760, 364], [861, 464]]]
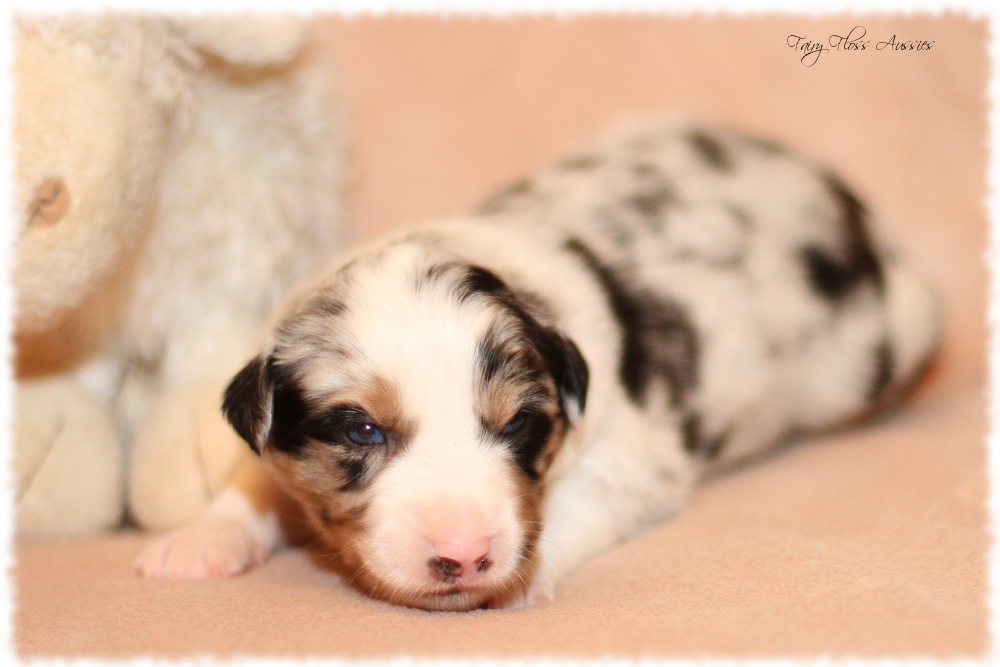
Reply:
[[[855, 26], [866, 49], [825, 51], [812, 66], [789, 46], [828, 45]], [[900, 412], [713, 480], [678, 519], [588, 563], [542, 607], [392, 607], [296, 551], [230, 580], [145, 581], [131, 570], [143, 538], [119, 534], [16, 545], [22, 656], [984, 654], [985, 22], [395, 17], [322, 28], [352, 110], [349, 196], [364, 236], [462, 211], [618, 119], [681, 109], [839, 170], [940, 290], [939, 363]], [[930, 50], [876, 48], [914, 40]]]

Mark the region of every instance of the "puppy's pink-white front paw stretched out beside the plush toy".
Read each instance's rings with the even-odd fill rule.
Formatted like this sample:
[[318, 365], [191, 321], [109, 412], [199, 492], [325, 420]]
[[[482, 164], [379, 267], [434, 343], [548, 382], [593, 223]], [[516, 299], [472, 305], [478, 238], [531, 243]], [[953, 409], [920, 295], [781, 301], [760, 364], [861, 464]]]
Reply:
[[271, 547], [232, 519], [202, 519], [147, 545], [136, 570], [152, 579], [230, 577], [267, 560]]

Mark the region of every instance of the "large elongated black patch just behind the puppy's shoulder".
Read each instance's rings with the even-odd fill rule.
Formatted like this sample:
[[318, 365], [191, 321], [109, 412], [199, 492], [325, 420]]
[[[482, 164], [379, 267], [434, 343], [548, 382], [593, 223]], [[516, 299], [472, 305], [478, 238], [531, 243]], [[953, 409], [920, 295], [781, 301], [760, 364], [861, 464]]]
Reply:
[[579, 239], [569, 239], [564, 248], [594, 274], [618, 321], [618, 374], [629, 398], [644, 406], [650, 385], [660, 379], [670, 390], [671, 405], [682, 406], [698, 382], [697, 336], [687, 314], [672, 300], [630, 285], [624, 272], [602, 263]]

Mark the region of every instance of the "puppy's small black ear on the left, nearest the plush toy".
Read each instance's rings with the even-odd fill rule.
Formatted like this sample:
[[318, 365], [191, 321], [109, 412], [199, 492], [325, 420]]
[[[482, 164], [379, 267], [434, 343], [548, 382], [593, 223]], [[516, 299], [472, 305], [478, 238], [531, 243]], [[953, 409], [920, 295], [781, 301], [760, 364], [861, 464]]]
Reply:
[[259, 354], [236, 374], [222, 400], [226, 421], [258, 455], [271, 430], [273, 402], [270, 358]]

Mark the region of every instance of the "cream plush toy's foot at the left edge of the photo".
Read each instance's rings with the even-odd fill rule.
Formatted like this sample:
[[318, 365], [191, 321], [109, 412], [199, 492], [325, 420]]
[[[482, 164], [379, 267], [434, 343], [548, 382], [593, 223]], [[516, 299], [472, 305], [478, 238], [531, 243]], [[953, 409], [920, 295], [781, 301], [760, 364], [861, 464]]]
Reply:
[[117, 525], [123, 456], [107, 406], [66, 378], [19, 382], [14, 406], [18, 537], [77, 537]]

